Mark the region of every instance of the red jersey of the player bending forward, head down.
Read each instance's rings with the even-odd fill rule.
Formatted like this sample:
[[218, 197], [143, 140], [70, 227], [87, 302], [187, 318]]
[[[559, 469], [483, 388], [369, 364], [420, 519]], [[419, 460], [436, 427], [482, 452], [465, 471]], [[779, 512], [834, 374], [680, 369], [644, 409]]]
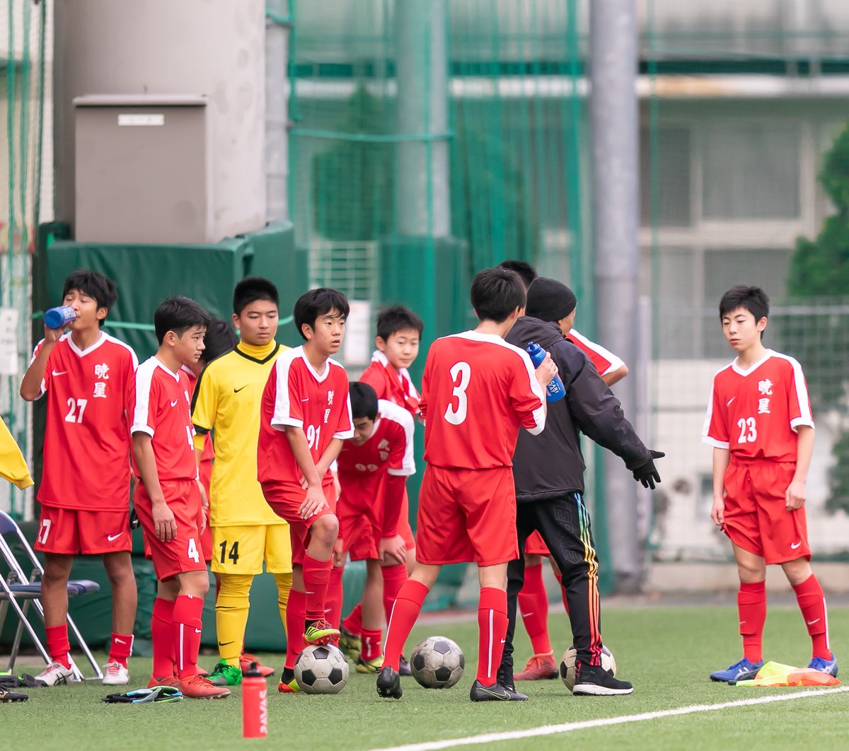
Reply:
[[415, 474], [413, 459], [413, 417], [401, 406], [380, 399], [380, 417], [374, 432], [363, 446], [346, 440], [339, 455], [339, 481], [342, 499], [352, 496], [357, 505], [374, 502], [385, 474], [408, 477]]

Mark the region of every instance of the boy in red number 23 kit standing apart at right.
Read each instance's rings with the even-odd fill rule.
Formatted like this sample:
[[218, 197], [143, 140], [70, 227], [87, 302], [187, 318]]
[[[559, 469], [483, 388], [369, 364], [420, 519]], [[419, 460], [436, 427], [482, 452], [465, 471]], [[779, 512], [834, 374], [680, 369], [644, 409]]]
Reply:
[[743, 658], [712, 681], [754, 678], [763, 664], [767, 565], [778, 563], [796, 591], [812, 641], [808, 665], [837, 675], [823, 588], [811, 570], [805, 482], [813, 418], [801, 366], [763, 346], [769, 299], [759, 287], [729, 289], [719, 303], [722, 333], [737, 353], [713, 379], [703, 439], [713, 446], [711, 518], [731, 540]]

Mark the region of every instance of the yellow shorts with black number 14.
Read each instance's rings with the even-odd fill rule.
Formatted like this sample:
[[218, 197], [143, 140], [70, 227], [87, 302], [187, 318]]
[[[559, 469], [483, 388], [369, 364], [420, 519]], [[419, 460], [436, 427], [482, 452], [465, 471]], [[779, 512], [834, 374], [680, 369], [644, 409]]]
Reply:
[[289, 524], [212, 528], [210, 568], [216, 574], [261, 574], [263, 561], [272, 574], [291, 573]]

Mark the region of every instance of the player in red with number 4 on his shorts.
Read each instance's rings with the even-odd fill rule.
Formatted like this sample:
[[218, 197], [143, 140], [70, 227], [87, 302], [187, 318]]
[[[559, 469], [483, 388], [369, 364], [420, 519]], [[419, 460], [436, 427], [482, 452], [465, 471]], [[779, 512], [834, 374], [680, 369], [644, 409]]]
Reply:
[[176, 686], [188, 698], [224, 698], [226, 688], [198, 675], [201, 614], [209, 574], [200, 548], [200, 500], [188, 376], [204, 351], [210, 317], [194, 300], [170, 297], [156, 309], [159, 349], [138, 366], [132, 389], [133, 502], [159, 585], [150, 623], [149, 687]]

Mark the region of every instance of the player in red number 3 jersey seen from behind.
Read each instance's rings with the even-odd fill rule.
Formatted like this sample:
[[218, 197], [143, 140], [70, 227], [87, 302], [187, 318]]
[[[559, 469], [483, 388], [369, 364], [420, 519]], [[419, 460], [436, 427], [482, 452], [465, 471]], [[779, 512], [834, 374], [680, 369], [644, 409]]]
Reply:
[[382, 697], [402, 696], [401, 647], [442, 565], [475, 561], [480, 642], [470, 698], [527, 698], [496, 678], [507, 633], [507, 563], [519, 554], [511, 467], [520, 427], [534, 434], [545, 427], [543, 390], [557, 368], [546, 356], [534, 371], [527, 353], [504, 341], [526, 302], [515, 272], [480, 272], [470, 297], [477, 328], [437, 339], [424, 366], [419, 407], [428, 465], [419, 494], [419, 561], [392, 608], [377, 679]]

